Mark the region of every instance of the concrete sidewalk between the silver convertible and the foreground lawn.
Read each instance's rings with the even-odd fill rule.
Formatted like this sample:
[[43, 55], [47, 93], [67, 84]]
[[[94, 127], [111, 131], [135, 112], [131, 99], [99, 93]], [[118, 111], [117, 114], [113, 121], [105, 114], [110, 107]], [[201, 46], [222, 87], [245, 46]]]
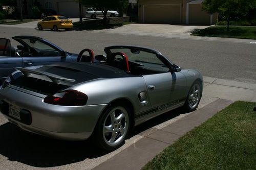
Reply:
[[141, 132], [140, 140], [94, 169], [140, 169], [186, 132], [238, 100], [256, 102], [256, 84], [204, 77], [199, 109]]

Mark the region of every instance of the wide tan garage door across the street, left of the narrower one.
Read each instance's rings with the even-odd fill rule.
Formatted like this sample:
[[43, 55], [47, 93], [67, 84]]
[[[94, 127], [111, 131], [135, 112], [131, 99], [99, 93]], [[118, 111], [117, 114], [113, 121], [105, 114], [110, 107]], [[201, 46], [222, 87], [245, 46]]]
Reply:
[[144, 23], [180, 23], [181, 5], [144, 5], [143, 16]]

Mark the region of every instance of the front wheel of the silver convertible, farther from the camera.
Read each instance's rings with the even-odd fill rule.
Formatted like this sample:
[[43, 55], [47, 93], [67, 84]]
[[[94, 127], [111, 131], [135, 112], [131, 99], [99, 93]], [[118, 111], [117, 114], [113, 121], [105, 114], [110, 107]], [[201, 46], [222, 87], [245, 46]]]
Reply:
[[184, 108], [186, 111], [195, 111], [202, 97], [202, 83], [195, 81], [190, 87]]

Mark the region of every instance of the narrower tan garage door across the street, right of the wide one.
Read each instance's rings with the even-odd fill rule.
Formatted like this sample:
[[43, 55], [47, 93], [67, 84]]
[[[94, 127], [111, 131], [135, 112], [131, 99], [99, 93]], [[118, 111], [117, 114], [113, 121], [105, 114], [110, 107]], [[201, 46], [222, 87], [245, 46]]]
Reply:
[[201, 4], [189, 4], [189, 24], [210, 24], [210, 14], [202, 10]]

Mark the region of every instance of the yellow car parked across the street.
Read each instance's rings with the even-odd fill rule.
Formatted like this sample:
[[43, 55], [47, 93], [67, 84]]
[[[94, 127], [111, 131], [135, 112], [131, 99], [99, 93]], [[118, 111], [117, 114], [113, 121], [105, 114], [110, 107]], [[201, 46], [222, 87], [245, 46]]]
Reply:
[[58, 29], [70, 30], [73, 28], [72, 20], [66, 16], [52, 15], [37, 23], [38, 30], [51, 29], [58, 31]]

